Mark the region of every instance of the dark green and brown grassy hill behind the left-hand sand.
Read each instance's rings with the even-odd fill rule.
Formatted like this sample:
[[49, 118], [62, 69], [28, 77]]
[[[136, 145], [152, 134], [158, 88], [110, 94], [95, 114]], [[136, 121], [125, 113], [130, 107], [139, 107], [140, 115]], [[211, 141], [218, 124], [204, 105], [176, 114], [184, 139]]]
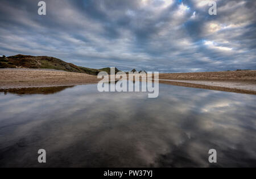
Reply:
[[[82, 66], [76, 66], [72, 63], [67, 63], [54, 57], [30, 55], [0, 57], [0, 68], [47, 68], [64, 70], [67, 72], [87, 73], [92, 75], [97, 75], [99, 72], [105, 71], [110, 74], [110, 68], [85, 68]], [[115, 68], [115, 73], [117, 72], [119, 72], [119, 70]]]

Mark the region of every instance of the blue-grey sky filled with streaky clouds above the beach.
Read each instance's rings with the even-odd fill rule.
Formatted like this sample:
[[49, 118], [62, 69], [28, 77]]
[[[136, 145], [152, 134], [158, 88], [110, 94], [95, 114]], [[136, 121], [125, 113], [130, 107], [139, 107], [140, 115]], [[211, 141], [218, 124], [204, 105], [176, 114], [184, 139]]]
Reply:
[[0, 1], [0, 55], [158, 72], [256, 69], [256, 1]]

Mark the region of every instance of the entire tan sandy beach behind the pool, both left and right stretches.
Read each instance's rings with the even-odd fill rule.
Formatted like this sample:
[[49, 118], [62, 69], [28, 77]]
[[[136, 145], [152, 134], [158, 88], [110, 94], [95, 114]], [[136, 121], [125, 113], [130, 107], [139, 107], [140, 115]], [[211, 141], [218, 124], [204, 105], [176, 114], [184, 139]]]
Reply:
[[[0, 69], [0, 89], [95, 84], [97, 76], [52, 69]], [[199, 73], [161, 73], [170, 85], [256, 94], [256, 70]]]

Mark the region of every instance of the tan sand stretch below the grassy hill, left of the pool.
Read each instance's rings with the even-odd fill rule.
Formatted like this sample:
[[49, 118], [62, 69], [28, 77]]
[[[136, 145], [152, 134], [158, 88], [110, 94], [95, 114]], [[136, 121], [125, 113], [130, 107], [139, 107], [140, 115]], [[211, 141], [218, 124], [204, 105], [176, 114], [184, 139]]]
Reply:
[[94, 84], [97, 76], [52, 69], [0, 69], [0, 89]]

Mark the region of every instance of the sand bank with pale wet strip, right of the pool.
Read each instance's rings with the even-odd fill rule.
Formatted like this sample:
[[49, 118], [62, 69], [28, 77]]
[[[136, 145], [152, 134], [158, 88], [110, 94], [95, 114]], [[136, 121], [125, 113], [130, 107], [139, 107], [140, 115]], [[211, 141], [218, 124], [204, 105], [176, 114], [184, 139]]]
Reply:
[[191, 88], [256, 94], [256, 70], [160, 73], [159, 82]]

